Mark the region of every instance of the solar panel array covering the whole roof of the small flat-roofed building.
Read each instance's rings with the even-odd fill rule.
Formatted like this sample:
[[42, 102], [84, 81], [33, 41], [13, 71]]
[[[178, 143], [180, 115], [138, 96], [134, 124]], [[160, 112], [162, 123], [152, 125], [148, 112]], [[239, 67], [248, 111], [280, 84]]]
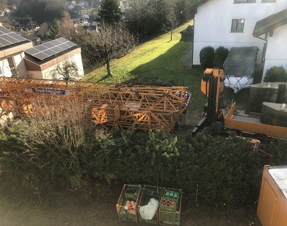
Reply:
[[74, 42], [68, 41], [65, 38], [58, 38], [53, 41], [35, 46], [31, 49], [27, 49], [25, 50], [25, 53], [28, 53], [39, 60], [44, 60], [74, 46], [76, 46]]

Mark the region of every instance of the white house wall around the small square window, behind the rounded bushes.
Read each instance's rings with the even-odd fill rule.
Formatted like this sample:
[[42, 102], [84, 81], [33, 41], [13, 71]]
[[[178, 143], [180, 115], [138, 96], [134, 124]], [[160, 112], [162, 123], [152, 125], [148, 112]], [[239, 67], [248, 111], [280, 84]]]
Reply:
[[[257, 63], [260, 63], [264, 41], [253, 37], [257, 21], [287, 7], [286, 0], [262, 3], [234, 3], [234, 0], [209, 0], [197, 8], [194, 18], [193, 65], [199, 65], [199, 53], [205, 46], [216, 49], [257, 46]], [[231, 32], [232, 19], [245, 19], [243, 32]]]

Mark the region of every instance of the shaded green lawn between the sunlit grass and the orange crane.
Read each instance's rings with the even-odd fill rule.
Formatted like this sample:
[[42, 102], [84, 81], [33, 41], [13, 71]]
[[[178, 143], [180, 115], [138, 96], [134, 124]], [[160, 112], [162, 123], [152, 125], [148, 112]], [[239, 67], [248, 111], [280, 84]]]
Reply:
[[[138, 65], [130, 71], [132, 77], [135, 78], [133, 83], [136, 83], [136, 80], [160, 80], [169, 81], [174, 85], [187, 86], [192, 93], [192, 107], [201, 109], [206, 101], [200, 91], [203, 70], [202, 68], [185, 68], [180, 60], [191, 47], [190, 43], [178, 42], [157, 58]], [[150, 85], [158, 85], [158, 83]]]

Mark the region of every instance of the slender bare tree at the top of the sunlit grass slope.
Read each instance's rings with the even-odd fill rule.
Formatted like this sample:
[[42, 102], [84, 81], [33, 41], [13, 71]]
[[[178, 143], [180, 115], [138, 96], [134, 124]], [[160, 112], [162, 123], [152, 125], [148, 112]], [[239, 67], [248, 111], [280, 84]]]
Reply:
[[163, 30], [170, 32], [170, 41], [172, 41], [173, 30], [179, 25], [180, 22], [177, 18], [176, 1], [172, 0], [167, 4], [169, 10], [167, 11], [165, 23], [163, 24]]

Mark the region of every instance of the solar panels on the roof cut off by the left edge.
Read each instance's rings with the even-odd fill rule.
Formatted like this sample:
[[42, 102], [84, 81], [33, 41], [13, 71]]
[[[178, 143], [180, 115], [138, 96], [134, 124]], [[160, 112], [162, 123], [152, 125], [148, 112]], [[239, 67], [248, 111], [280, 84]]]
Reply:
[[31, 41], [21, 35], [0, 26], [0, 51], [29, 42]]

